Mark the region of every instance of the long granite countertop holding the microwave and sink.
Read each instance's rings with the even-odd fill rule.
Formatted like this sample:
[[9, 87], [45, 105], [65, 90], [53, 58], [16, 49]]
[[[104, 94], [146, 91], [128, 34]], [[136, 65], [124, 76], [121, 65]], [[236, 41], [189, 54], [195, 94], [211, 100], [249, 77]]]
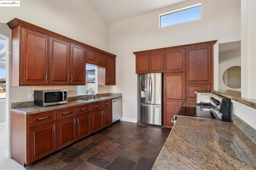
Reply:
[[45, 111], [52, 111], [56, 109], [64, 109], [67, 107], [73, 107], [73, 106], [80, 106], [80, 105], [85, 105], [88, 103], [94, 103], [94, 102], [99, 102], [99, 101], [105, 101], [109, 99], [118, 99], [121, 98], [122, 96], [104, 96], [105, 99], [100, 99], [96, 101], [86, 101], [86, 100], [74, 100], [74, 101], [68, 101], [68, 103], [60, 104], [60, 105], [52, 105], [52, 106], [29, 106], [29, 107], [19, 107], [19, 108], [14, 108], [11, 109], [12, 112], [24, 114], [24, 115], [29, 115], [33, 113], [40, 113], [40, 112], [45, 112]]

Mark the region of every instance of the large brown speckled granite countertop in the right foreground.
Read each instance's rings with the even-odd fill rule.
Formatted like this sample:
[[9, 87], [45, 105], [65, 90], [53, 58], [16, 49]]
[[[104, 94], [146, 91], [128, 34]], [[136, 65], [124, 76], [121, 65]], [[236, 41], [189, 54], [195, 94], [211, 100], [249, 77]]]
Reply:
[[256, 145], [234, 123], [178, 117], [152, 169], [256, 169]]

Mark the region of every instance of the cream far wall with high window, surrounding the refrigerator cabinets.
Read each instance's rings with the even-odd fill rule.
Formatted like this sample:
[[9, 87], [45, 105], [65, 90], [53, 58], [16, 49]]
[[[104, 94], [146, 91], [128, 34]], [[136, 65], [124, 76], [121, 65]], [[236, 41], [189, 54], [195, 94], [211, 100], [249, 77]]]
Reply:
[[[159, 14], [202, 2], [202, 19], [159, 28]], [[218, 40], [214, 45], [214, 88], [218, 88], [218, 43], [240, 40], [240, 0], [188, 0], [109, 25], [109, 50], [116, 54], [116, 86], [123, 117], [137, 121], [134, 51]]]

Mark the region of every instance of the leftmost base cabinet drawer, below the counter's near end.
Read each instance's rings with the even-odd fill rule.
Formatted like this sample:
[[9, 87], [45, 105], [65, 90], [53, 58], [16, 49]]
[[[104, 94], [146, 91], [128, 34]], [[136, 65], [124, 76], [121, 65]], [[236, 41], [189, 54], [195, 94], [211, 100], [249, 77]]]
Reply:
[[28, 127], [33, 127], [36, 125], [41, 125], [52, 121], [56, 121], [55, 110], [28, 115]]

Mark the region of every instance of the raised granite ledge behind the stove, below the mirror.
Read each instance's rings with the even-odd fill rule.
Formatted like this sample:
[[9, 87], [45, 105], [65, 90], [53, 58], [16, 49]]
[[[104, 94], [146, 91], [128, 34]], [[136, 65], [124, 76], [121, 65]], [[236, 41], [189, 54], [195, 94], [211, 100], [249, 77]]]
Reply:
[[256, 99], [246, 99], [241, 97], [240, 91], [234, 91], [234, 90], [212, 90], [212, 93], [216, 93], [218, 95], [224, 96], [230, 100], [237, 101], [239, 103], [242, 103], [246, 106], [252, 107], [256, 109]]

